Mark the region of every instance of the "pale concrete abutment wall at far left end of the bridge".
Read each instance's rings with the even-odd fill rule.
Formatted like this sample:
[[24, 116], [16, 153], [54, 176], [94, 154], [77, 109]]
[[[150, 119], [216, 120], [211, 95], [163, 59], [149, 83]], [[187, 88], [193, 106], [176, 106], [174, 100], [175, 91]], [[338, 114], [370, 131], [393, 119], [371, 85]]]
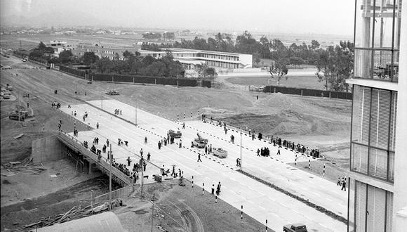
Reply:
[[67, 157], [67, 147], [56, 136], [48, 136], [32, 141], [32, 162], [51, 162]]

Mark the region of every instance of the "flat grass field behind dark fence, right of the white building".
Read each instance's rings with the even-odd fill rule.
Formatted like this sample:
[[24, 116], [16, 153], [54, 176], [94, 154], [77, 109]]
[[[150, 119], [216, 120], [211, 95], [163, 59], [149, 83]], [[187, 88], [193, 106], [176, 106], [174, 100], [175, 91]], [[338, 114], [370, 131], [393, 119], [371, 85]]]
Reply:
[[[270, 77], [230, 77], [226, 79], [232, 84], [241, 85], [277, 85], [275, 79]], [[290, 76], [288, 79], [281, 79], [280, 86], [305, 88], [305, 89], [325, 89], [323, 82], [318, 82], [316, 76]]]

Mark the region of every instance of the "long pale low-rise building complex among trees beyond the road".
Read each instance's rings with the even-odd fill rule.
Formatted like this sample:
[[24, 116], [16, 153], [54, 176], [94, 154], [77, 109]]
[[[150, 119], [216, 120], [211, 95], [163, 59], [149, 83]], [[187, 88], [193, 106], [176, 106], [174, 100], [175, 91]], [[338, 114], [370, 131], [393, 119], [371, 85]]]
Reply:
[[147, 51], [131, 46], [105, 46], [92, 42], [81, 42], [72, 52], [75, 56], [84, 56], [85, 52], [94, 52], [100, 58], [113, 60], [117, 56], [119, 59], [123, 59], [124, 51], [130, 51], [131, 53], [138, 51], [141, 56], [152, 56], [154, 58], [162, 58], [166, 56], [168, 51], [171, 51], [174, 60], [180, 61], [185, 70], [193, 70], [197, 64], [206, 64], [209, 67], [215, 67], [217, 70], [248, 68], [252, 67], [253, 58], [251, 54], [241, 53], [175, 48], [165, 48], [161, 49], [161, 51]]

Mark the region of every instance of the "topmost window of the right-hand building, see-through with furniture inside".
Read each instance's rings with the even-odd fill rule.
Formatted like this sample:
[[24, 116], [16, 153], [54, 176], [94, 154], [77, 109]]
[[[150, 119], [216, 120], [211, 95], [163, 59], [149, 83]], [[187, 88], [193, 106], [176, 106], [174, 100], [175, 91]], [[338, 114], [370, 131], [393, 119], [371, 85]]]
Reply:
[[356, 0], [354, 77], [397, 82], [400, 0]]

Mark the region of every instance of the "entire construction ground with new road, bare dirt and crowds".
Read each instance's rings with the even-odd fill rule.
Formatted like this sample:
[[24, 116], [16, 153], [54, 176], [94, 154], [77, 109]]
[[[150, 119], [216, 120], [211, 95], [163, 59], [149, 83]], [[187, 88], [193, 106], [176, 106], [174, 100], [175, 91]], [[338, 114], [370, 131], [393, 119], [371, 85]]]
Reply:
[[347, 230], [351, 101], [1, 64], [2, 231]]

